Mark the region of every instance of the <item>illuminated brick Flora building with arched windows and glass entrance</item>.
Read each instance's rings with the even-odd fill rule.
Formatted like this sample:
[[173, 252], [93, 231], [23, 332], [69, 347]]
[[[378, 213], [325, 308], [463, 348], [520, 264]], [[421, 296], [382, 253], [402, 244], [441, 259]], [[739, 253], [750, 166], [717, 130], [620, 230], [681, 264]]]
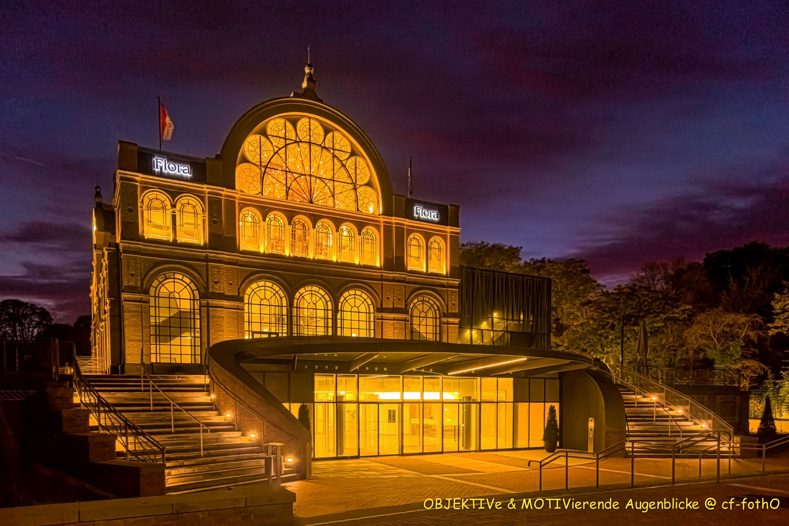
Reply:
[[311, 66], [302, 87], [249, 110], [215, 158], [119, 144], [94, 213], [95, 370], [202, 374], [230, 340], [410, 341], [365, 367], [290, 348], [245, 367], [282, 403], [280, 428], [308, 404], [313, 457], [541, 446], [559, 372], [589, 367], [549, 357], [550, 280], [460, 267], [458, 207], [393, 195]]

